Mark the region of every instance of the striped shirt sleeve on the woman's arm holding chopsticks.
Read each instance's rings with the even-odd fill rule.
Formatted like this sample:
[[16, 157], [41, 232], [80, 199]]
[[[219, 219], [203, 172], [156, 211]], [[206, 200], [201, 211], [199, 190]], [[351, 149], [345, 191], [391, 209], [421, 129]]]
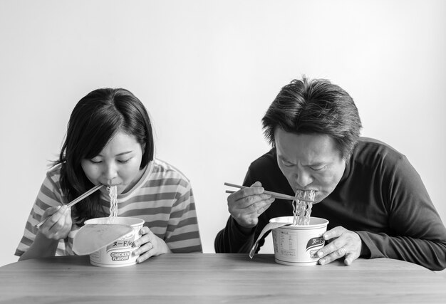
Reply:
[[[50, 207], [61, 206], [64, 201], [65, 198], [62, 195], [61, 188], [58, 186], [58, 182], [51, 177], [51, 174], [47, 173], [26, 221], [24, 235], [16, 248], [16, 256], [21, 256], [27, 251], [34, 239], [36, 239], [38, 232], [36, 224], [41, 221], [43, 212]], [[65, 254], [65, 240], [61, 240], [58, 243], [56, 256], [64, 256]]]

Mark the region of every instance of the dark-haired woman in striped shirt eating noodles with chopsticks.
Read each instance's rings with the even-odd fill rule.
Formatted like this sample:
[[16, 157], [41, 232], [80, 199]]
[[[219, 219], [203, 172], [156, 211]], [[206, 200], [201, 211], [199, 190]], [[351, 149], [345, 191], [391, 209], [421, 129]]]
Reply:
[[[116, 186], [118, 216], [145, 220], [138, 263], [162, 253], [202, 252], [189, 180], [154, 158], [144, 105], [128, 90], [98, 89], [71, 113], [59, 159], [46, 174], [16, 249], [19, 260], [73, 255], [73, 237], [87, 219], [109, 216], [107, 187], [68, 204], [95, 185]], [[36, 228], [36, 224], [48, 218]]]

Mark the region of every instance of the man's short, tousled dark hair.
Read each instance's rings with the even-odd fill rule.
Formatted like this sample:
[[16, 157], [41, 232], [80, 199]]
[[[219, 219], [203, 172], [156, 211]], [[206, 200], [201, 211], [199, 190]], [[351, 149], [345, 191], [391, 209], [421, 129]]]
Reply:
[[325, 79], [308, 81], [305, 77], [285, 85], [261, 121], [273, 147], [277, 127], [294, 134], [329, 135], [346, 161], [362, 127], [358, 109], [345, 90]]

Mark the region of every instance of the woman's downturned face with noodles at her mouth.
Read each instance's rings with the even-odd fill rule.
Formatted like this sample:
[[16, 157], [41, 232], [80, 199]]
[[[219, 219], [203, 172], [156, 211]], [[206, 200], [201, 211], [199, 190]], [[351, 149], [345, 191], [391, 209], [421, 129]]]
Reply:
[[142, 147], [133, 135], [118, 132], [104, 149], [91, 159], [83, 159], [81, 166], [95, 185], [118, 186], [118, 194], [130, 190], [140, 180]]

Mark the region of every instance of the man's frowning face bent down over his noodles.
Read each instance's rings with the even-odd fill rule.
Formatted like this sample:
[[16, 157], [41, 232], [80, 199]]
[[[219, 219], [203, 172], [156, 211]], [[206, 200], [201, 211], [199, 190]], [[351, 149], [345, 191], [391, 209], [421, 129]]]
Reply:
[[325, 199], [341, 180], [346, 161], [328, 135], [296, 135], [274, 131], [277, 164], [296, 190], [315, 190], [316, 202]]

